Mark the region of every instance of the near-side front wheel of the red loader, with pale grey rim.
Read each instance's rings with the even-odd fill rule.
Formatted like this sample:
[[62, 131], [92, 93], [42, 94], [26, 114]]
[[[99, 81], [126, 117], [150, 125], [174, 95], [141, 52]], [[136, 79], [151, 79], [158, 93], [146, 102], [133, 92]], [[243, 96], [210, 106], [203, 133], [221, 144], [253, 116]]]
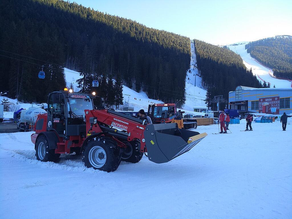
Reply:
[[110, 138], [92, 139], [85, 146], [82, 154], [84, 166], [108, 173], [116, 171], [121, 162], [119, 148]]

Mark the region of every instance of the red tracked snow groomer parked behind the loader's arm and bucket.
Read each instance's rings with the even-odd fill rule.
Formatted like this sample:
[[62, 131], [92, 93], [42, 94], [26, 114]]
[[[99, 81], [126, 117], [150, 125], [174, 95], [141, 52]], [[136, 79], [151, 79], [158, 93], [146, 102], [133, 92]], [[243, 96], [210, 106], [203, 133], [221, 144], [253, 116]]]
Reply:
[[[174, 103], [158, 103], [148, 107], [148, 115], [153, 124], [171, 123], [176, 112], [183, 118], [184, 111], [177, 111]], [[183, 124], [184, 129], [197, 128], [197, 120], [184, 119]]]

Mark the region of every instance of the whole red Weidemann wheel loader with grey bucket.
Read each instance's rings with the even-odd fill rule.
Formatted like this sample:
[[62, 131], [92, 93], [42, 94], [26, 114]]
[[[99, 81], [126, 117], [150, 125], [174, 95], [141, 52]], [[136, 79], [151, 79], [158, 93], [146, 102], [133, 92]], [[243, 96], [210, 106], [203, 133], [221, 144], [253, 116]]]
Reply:
[[[93, 105], [93, 100], [97, 106]], [[189, 151], [207, 134], [179, 130], [177, 124], [147, 125], [111, 109], [102, 97], [58, 91], [48, 96], [31, 135], [36, 158], [57, 161], [61, 154], [82, 154], [84, 165], [115, 171], [121, 161], [137, 163], [143, 154], [165, 163]]]

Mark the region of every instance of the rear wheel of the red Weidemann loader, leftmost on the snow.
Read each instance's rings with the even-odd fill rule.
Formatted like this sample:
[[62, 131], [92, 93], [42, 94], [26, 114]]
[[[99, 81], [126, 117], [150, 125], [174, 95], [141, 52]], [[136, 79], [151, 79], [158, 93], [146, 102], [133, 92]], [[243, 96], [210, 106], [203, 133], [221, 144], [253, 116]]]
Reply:
[[60, 154], [55, 154], [55, 149], [49, 149], [48, 139], [46, 136], [41, 135], [36, 140], [36, 159], [39, 161], [57, 161]]

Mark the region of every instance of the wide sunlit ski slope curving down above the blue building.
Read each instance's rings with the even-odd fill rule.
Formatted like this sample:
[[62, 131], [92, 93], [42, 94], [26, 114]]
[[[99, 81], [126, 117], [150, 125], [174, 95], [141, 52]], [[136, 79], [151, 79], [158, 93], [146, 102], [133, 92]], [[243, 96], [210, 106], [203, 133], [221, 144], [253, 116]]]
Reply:
[[292, 82], [288, 80], [282, 80], [282, 79], [276, 79], [272, 77], [273, 71], [263, 65], [261, 65], [257, 60], [251, 57], [249, 53], [247, 53], [247, 50], [245, 49], [245, 44], [238, 45], [238, 46], [231, 46], [227, 45], [227, 47], [239, 54], [243, 60], [244, 65], [247, 69], [252, 69], [253, 74], [256, 75], [256, 77], [266, 83], [270, 83], [271, 87], [275, 85], [276, 88], [291, 88]]

